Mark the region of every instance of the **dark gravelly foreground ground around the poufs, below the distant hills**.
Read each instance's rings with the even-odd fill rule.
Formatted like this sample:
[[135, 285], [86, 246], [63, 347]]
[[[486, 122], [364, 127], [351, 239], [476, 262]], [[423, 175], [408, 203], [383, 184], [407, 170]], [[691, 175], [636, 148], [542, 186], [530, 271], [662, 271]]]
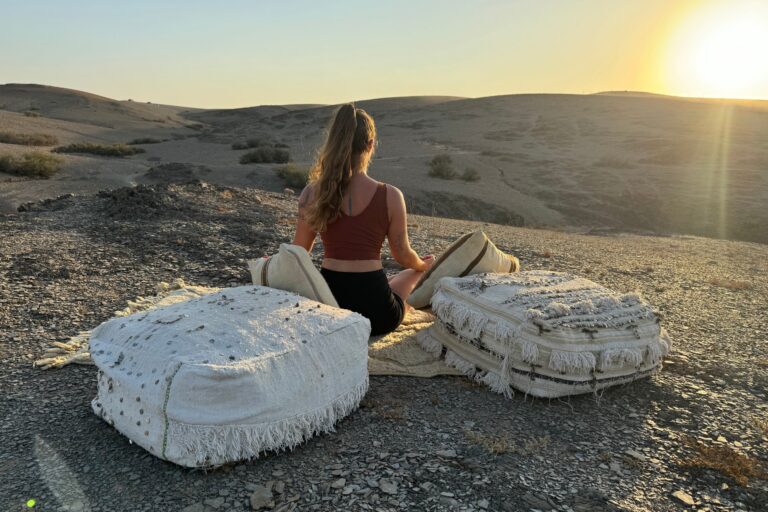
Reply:
[[641, 292], [674, 340], [664, 370], [563, 400], [506, 400], [459, 377], [374, 377], [335, 434], [208, 472], [163, 462], [94, 415], [94, 367], [32, 367], [49, 343], [158, 281], [247, 283], [246, 259], [290, 241], [294, 202], [154, 185], [0, 217], [0, 509], [30, 499], [39, 510], [93, 511], [768, 509], [759, 244], [414, 216], [420, 253], [483, 227], [524, 268]]

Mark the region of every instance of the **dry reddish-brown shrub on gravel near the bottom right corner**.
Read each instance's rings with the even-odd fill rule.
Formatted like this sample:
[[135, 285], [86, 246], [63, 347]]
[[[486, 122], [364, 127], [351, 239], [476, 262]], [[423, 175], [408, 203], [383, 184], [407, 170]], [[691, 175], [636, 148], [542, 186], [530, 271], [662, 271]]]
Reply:
[[720, 471], [742, 487], [749, 483], [750, 478], [768, 480], [768, 472], [759, 461], [728, 445], [706, 445], [689, 437], [683, 438], [683, 444], [695, 452], [690, 460], [683, 462], [683, 466]]

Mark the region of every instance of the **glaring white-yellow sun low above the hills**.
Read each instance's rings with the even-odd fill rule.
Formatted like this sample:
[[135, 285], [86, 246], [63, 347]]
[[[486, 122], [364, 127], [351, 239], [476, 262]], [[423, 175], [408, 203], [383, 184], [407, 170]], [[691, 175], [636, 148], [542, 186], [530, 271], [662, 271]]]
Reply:
[[669, 46], [667, 89], [686, 96], [768, 98], [768, 5], [699, 8]]

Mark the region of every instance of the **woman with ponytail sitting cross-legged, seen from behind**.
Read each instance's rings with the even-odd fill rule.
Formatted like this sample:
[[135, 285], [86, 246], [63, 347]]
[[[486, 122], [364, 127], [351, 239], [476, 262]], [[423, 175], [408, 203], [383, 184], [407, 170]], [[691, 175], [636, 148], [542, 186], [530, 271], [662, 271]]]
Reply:
[[[320, 272], [340, 307], [371, 321], [372, 335], [400, 325], [408, 295], [434, 261], [411, 249], [402, 192], [368, 176], [375, 146], [373, 118], [353, 104], [341, 106], [299, 197], [293, 240], [309, 252], [320, 233]], [[389, 280], [381, 266], [385, 238], [405, 267]]]

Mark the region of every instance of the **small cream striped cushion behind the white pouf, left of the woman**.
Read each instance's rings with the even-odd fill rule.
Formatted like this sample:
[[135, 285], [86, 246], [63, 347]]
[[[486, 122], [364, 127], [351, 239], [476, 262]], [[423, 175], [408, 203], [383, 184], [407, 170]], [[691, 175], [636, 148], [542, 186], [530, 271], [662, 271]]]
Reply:
[[339, 307], [328, 283], [315, 268], [306, 249], [280, 244], [277, 254], [248, 261], [253, 284], [298, 293], [308, 299]]

